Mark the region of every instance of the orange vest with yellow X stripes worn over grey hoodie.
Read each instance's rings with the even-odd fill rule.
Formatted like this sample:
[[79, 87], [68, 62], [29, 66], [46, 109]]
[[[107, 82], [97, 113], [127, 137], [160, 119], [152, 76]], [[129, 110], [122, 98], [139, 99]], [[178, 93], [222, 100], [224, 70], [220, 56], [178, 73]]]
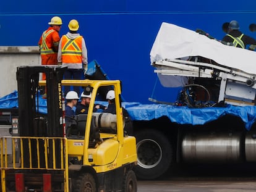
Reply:
[[70, 40], [66, 35], [62, 36], [61, 52], [62, 63], [80, 64], [82, 63], [82, 36]]

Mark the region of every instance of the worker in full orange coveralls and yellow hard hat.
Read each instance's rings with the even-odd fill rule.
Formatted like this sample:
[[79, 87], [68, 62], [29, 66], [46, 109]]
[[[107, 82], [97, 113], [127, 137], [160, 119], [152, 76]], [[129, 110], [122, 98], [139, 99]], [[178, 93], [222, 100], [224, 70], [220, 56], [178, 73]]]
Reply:
[[[41, 64], [42, 65], [57, 65], [57, 52], [59, 47], [59, 30], [61, 29], [62, 20], [60, 17], [53, 17], [48, 23], [50, 26], [48, 30], [43, 31], [40, 37], [38, 46], [40, 47]], [[46, 76], [43, 73], [42, 80]]]

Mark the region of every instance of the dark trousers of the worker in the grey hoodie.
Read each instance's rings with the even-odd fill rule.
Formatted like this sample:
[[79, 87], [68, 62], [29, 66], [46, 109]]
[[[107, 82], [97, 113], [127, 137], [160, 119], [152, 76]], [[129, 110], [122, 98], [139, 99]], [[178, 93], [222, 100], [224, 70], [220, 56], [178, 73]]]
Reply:
[[[83, 79], [83, 69], [67, 69], [64, 72], [64, 79], [65, 80], [81, 80]], [[80, 86], [74, 86], [73, 90], [77, 92], [78, 96], [80, 97]], [[70, 86], [64, 86], [64, 96], [66, 96], [67, 92], [71, 91]]]

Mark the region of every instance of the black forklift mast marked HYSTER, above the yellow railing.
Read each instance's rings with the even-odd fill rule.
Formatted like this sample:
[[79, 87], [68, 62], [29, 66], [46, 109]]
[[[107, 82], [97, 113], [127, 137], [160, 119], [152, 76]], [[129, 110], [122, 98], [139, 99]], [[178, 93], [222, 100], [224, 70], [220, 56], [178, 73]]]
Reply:
[[[17, 67], [20, 136], [64, 136], [61, 80], [66, 69], [62, 65]], [[40, 73], [46, 74], [46, 119], [39, 113]]]

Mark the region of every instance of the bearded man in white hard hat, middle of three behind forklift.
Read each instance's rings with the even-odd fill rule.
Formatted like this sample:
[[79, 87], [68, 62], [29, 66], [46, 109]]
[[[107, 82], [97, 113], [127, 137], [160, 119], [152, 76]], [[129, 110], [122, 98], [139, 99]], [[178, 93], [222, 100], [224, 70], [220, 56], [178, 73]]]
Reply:
[[[81, 102], [77, 104], [77, 107], [75, 109], [75, 114], [88, 114], [88, 109], [90, 105], [90, 101], [92, 98], [92, 93], [86, 95], [86, 94], [81, 94]], [[95, 104], [93, 112], [96, 112], [98, 109], [106, 109], [106, 106], [100, 105], [100, 104]]]

